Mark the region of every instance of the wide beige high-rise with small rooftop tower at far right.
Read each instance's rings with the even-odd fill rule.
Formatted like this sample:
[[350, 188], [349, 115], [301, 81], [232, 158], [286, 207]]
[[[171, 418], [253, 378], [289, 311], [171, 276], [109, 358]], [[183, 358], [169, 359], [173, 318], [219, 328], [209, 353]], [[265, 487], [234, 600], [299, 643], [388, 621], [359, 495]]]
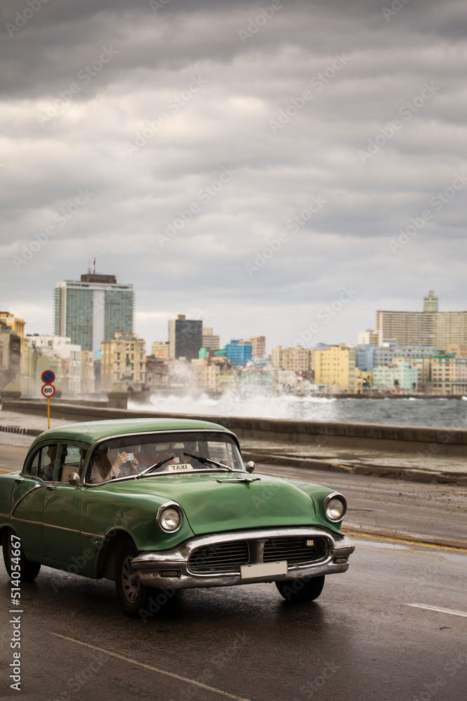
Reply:
[[446, 351], [452, 343], [467, 343], [467, 311], [438, 311], [438, 297], [431, 291], [424, 297], [424, 311], [377, 311], [376, 328], [384, 341]]

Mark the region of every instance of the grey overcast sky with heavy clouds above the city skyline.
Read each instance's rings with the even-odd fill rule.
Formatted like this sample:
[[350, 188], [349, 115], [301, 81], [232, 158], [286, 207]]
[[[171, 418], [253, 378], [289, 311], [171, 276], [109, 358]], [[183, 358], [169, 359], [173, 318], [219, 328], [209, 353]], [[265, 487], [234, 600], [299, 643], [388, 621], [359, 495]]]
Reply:
[[464, 1], [0, 17], [0, 306], [26, 332], [53, 332], [55, 283], [94, 258], [134, 284], [148, 351], [178, 313], [270, 351], [356, 343], [428, 290], [467, 308]]

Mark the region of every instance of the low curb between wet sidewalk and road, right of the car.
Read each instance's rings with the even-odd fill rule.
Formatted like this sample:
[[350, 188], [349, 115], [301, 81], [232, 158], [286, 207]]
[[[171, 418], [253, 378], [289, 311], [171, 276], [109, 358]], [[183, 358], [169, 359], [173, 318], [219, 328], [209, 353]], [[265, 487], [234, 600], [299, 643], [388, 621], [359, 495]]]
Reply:
[[309, 470], [324, 470], [327, 472], [347, 472], [350, 475], [403, 479], [407, 482], [422, 482], [424, 484], [467, 486], [467, 474], [465, 472], [435, 472], [433, 470], [412, 470], [411, 468], [388, 468], [384, 465], [330, 463], [329, 461], [311, 458], [290, 458], [288, 456], [258, 453], [249, 449], [242, 451], [242, 455], [246, 461], [253, 460], [264, 465], [281, 465], [283, 467], [307, 468]]

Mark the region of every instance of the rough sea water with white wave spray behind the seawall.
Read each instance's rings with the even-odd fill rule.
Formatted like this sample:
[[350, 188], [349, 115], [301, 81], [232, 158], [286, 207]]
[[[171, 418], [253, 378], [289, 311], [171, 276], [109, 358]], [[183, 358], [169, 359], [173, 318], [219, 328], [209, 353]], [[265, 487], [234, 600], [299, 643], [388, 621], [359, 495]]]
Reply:
[[206, 394], [151, 395], [150, 404], [129, 402], [129, 409], [197, 416], [254, 416], [305, 421], [382, 423], [392, 426], [467, 428], [467, 397], [451, 399], [334, 399], [295, 397], [258, 390], [232, 389], [218, 399]]

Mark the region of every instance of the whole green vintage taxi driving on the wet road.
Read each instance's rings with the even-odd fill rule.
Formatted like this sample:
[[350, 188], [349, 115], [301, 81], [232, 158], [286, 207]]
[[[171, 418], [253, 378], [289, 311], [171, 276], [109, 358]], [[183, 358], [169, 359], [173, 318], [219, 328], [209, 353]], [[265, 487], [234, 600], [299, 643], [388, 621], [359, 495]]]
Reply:
[[143, 618], [188, 587], [274, 582], [285, 599], [316, 599], [354, 551], [340, 533], [346, 501], [253, 470], [237, 436], [207, 421], [45, 431], [21, 472], [0, 476], [8, 575], [20, 564], [33, 580], [43, 564], [109, 578], [125, 613]]

